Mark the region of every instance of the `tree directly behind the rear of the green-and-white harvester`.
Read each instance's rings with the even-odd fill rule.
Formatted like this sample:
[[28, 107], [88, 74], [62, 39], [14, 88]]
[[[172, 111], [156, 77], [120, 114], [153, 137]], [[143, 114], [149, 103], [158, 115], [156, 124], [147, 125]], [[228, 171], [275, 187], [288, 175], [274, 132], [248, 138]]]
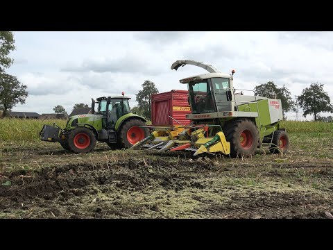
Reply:
[[267, 83], [262, 83], [255, 86], [255, 94], [261, 97], [267, 97], [271, 99], [280, 99], [282, 103], [282, 113], [285, 118], [285, 113], [293, 109], [295, 102], [291, 98], [291, 93], [289, 89], [283, 85], [282, 88], [278, 88], [273, 81], [268, 81]]

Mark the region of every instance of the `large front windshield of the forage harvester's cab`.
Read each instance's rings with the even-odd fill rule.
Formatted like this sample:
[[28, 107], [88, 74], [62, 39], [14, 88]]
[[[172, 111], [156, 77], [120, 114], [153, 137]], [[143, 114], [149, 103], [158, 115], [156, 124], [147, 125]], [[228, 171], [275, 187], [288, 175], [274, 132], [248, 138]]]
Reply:
[[189, 83], [189, 98], [193, 114], [215, 112], [212, 91], [207, 79], [197, 83]]

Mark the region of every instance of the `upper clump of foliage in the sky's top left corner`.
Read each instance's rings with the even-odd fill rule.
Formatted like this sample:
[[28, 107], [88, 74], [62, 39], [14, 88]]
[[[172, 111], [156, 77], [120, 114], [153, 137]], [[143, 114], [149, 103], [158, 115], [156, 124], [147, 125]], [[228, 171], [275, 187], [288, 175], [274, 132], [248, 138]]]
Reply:
[[9, 58], [10, 51], [15, 50], [14, 35], [11, 31], [0, 31], [0, 72], [3, 68], [8, 68], [13, 63], [13, 59]]

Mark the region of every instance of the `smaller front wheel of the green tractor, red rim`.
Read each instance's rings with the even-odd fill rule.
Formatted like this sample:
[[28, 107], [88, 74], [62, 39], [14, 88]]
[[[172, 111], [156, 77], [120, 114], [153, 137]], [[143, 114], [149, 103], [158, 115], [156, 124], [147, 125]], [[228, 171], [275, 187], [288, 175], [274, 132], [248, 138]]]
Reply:
[[67, 144], [74, 153], [88, 153], [94, 149], [96, 137], [89, 128], [78, 127], [69, 133]]

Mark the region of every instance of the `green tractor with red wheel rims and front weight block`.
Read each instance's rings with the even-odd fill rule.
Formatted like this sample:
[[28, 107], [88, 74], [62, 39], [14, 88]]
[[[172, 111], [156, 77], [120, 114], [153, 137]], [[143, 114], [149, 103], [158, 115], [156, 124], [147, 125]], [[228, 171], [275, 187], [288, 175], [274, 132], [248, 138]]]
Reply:
[[[99, 97], [92, 99], [92, 114], [69, 117], [66, 127], [44, 124], [40, 140], [60, 142], [74, 153], [88, 153], [96, 141], [106, 142], [111, 149], [129, 148], [150, 133], [146, 119], [130, 112], [130, 97]], [[95, 113], [95, 103], [98, 108]]]

